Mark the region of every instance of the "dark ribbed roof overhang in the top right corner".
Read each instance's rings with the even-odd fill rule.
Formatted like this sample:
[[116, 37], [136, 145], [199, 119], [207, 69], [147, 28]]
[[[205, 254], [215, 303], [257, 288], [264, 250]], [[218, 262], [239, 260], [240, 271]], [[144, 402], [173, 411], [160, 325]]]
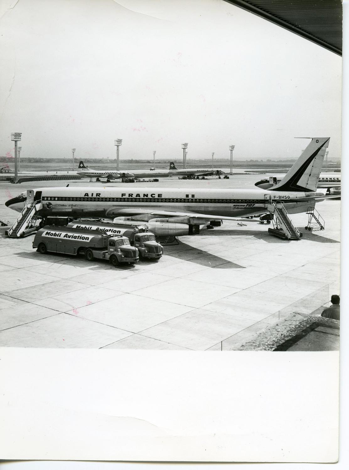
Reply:
[[341, 0], [225, 0], [342, 55]]

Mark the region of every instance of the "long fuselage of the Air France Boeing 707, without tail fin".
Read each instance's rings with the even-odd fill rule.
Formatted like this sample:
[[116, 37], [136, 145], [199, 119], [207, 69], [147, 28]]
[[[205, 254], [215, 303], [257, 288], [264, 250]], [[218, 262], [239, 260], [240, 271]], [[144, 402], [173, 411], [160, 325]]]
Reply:
[[[172, 188], [38, 188], [10, 199], [6, 205], [21, 211], [26, 198], [41, 200], [39, 214], [72, 217], [117, 217], [147, 211], [203, 213], [241, 217], [265, 213], [269, 199], [283, 202], [289, 213], [304, 212], [320, 196], [315, 192], [283, 192], [264, 189], [172, 189]], [[322, 196], [322, 195], [321, 195]], [[312, 204], [312, 201], [314, 203]]]

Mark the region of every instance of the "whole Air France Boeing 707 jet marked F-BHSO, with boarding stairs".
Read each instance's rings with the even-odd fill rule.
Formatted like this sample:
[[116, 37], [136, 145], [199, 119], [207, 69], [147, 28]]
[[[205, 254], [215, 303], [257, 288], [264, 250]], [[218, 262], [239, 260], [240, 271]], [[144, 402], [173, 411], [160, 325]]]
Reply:
[[22, 211], [26, 200], [33, 201], [44, 221], [56, 215], [151, 222], [159, 227], [155, 235], [186, 235], [212, 220], [265, 214], [270, 201], [283, 202], [291, 214], [306, 212], [316, 202], [333, 197], [316, 189], [329, 141], [329, 137], [312, 138], [289, 172], [270, 189], [38, 188], [9, 199], [6, 206]]

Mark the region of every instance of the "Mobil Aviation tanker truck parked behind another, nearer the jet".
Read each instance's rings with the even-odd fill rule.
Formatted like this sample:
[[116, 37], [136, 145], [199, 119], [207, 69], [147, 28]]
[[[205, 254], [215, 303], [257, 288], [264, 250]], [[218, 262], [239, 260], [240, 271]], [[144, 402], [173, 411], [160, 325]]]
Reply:
[[130, 244], [138, 248], [139, 256], [147, 259], [159, 259], [162, 257], [163, 248], [155, 241], [155, 235], [148, 232], [146, 226], [114, 223], [103, 219], [77, 219], [70, 222], [67, 227], [79, 230], [98, 230], [111, 235], [126, 236]]

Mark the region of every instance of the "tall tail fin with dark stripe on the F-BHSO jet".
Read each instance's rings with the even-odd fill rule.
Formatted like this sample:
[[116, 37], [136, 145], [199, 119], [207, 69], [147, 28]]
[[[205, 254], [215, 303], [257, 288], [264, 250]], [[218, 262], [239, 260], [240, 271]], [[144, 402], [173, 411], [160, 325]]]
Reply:
[[329, 137], [313, 137], [284, 178], [271, 191], [316, 191]]

